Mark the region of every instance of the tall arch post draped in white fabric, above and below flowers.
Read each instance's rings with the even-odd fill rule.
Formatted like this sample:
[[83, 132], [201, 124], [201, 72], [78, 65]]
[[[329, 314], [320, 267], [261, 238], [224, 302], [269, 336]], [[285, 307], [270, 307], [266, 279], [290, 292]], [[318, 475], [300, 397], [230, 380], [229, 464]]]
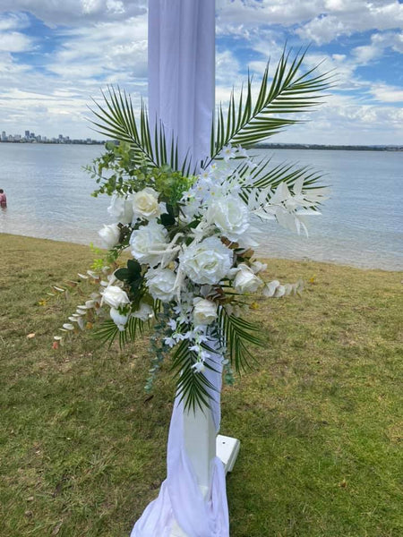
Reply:
[[[215, 0], [149, 0], [149, 117], [175, 137], [179, 162], [200, 169], [210, 154], [215, 93]], [[210, 407], [185, 410], [176, 396], [167, 445], [167, 479], [132, 537], [228, 537], [225, 473], [239, 440], [217, 436], [222, 356], [210, 357]]]

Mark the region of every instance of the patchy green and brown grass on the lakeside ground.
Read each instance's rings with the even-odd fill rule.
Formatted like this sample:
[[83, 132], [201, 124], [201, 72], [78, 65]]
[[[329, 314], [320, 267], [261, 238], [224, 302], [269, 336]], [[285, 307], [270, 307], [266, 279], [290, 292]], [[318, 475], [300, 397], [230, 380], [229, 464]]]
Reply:
[[[165, 477], [174, 385], [144, 394], [146, 340], [107, 351], [88, 331], [51, 348], [81, 299], [39, 300], [89, 266], [87, 248], [0, 246], [0, 535], [129, 535]], [[231, 537], [399, 537], [401, 274], [270, 260], [267, 276], [307, 284], [258, 300], [260, 365], [223, 392], [221, 432], [242, 442]]]

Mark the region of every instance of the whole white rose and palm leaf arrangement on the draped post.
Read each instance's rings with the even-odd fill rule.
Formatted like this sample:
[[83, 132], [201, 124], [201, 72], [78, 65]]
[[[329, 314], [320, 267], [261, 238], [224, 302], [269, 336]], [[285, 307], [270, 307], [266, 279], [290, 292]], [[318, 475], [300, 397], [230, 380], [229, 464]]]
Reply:
[[[95, 195], [111, 195], [107, 210], [115, 222], [99, 231], [109, 251], [100, 276], [91, 270], [80, 275], [95, 279], [99, 293], [61, 329], [84, 328], [89, 311], [107, 311], [99, 336], [108, 342], [118, 337], [124, 344], [153, 328], [146, 388], [169, 355], [177, 393], [189, 407], [208, 405], [206, 367], [219, 359], [231, 383], [233, 368], [240, 371], [248, 363], [250, 345], [262, 344], [258, 328], [245, 319], [247, 296], [302, 291], [301, 281], [265, 280], [267, 265], [254, 254], [262, 237], [256, 223], [272, 220], [307, 233], [307, 218], [320, 214], [327, 189], [311, 169], [270, 167], [270, 159], [255, 162], [246, 151], [296, 123], [289, 115], [311, 106], [313, 93], [327, 86], [323, 76], [301, 74], [301, 62], [297, 57], [288, 67], [283, 56], [271, 85], [266, 72], [254, 107], [251, 81], [238, 105], [231, 97], [199, 173], [177, 162], [161, 127], [151, 141], [145, 109], [138, 126], [130, 99], [120, 91], [110, 90], [107, 106], [95, 111], [99, 132], [116, 142], [108, 142], [89, 169], [101, 183]], [[123, 252], [130, 254], [125, 267], [119, 265]], [[56, 345], [62, 339], [57, 336]]]

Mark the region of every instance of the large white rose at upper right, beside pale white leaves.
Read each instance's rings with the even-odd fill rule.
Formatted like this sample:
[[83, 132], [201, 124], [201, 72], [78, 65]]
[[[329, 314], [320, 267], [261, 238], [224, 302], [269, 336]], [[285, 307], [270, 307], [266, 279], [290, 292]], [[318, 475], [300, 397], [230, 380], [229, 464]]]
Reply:
[[212, 200], [206, 219], [215, 224], [230, 241], [236, 241], [249, 227], [249, 211], [239, 196]]

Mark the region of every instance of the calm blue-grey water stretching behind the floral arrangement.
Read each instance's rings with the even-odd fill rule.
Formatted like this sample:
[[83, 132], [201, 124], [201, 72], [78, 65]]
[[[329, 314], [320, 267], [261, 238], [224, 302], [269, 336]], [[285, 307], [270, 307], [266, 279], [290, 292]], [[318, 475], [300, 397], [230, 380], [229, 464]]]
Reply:
[[[101, 146], [0, 143], [0, 232], [99, 244], [110, 219], [107, 196], [82, 170]], [[262, 152], [262, 151], [260, 151]], [[403, 269], [403, 153], [281, 149], [272, 162], [309, 164], [326, 172], [331, 199], [311, 218], [310, 236], [265, 226], [269, 257], [327, 260], [366, 268]], [[1, 239], [0, 239], [1, 240]]]

